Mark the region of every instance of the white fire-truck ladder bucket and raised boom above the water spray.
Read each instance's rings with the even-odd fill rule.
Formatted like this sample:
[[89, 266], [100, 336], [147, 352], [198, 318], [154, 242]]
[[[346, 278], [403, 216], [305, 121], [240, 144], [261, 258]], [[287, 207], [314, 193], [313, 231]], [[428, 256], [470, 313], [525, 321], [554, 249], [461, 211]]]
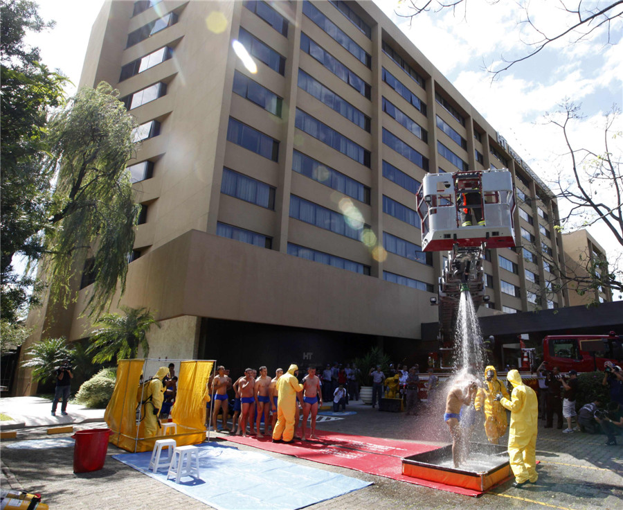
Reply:
[[[485, 295], [487, 248], [514, 247], [514, 188], [506, 170], [428, 174], [417, 191], [422, 251], [447, 251], [439, 279], [439, 339], [450, 350], [461, 292], [477, 310]], [[469, 217], [471, 216], [471, 222]]]

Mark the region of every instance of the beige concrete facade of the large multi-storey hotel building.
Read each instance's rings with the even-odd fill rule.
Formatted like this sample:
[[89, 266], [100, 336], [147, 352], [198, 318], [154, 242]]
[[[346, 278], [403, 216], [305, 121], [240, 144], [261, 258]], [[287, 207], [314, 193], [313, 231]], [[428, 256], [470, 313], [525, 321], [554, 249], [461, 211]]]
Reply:
[[[306, 328], [327, 335], [362, 335], [367, 339], [362, 341], [366, 350], [370, 339], [401, 339], [410, 342], [413, 353], [422, 351], [420, 324], [437, 319], [429, 299], [437, 292], [443, 256], [433, 254], [423, 263], [384, 249], [387, 235], [418, 246], [421, 239], [419, 228], [404, 221], [404, 214], [398, 218], [399, 214], [391, 213], [391, 205], [383, 212], [385, 197], [392, 204], [397, 202], [398, 209], [415, 210], [413, 191], [404, 181], [384, 176], [383, 166], [390, 164], [417, 182], [427, 171], [457, 171], [457, 166], [438, 152], [438, 143], [470, 169], [509, 168], [516, 188], [525, 195], [525, 200], [518, 197], [514, 213], [516, 245], [526, 245], [534, 260], [528, 260], [521, 248], [489, 251], [484, 265], [491, 302], [480, 314], [567, 306], [566, 294], [548, 294], [545, 288], [545, 281], [557, 275], [547, 274], [539, 250], [542, 246], [550, 249], [561, 261], [564, 253], [562, 238], [554, 229], [556, 201], [538, 177], [372, 2], [311, 2], [321, 18], [338, 28], [329, 30], [339, 34], [337, 39], [343, 42], [347, 36], [350, 42], [346, 46], [359, 46], [363, 61], [314, 23], [303, 12], [306, 5], [277, 1], [271, 2], [273, 9], [264, 2], [161, 1], [133, 15], [132, 2], [107, 1], [93, 25], [80, 85], [94, 86], [105, 80], [119, 90], [121, 98], [156, 83], [166, 85], [165, 95], [131, 109], [140, 124], [160, 123], [159, 134], [143, 140], [136, 159], [129, 162], [132, 166], [149, 161], [153, 173], [134, 185], [146, 216], [136, 227], [136, 260], [129, 264], [127, 291], [120, 301], [150, 308], [163, 323], [161, 330], [151, 334], [150, 357], [209, 353], [210, 332], [200, 334], [207, 319]], [[130, 33], [158, 20], [173, 19], [171, 13], [175, 21], [169, 21], [167, 28], [152, 29], [152, 35], [127, 46]], [[267, 21], [279, 16], [287, 23], [287, 35]], [[233, 42], [244, 37], [241, 29], [255, 37], [249, 51], [255, 54], [257, 73], [249, 71], [233, 50]], [[309, 53], [301, 50], [302, 39], [311, 39], [323, 53], [320, 55], [318, 46]], [[164, 46], [170, 49], [171, 58], [120, 80], [123, 66]], [[276, 54], [285, 59], [278, 71], [260, 61], [274, 60]], [[344, 76], [343, 71], [336, 71], [340, 65], [350, 73], [346, 82], [338, 76]], [[318, 100], [299, 87], [299, 70], [325, 87], [323, 98], [328, 97], [328, 90], [359, 110], [363, 127], [351, 120], [354, 110], [349, 110], [347, 118], [336, 111], [340, 109], [335, 107], [337, 100], [331, 107], [328, 98]], [[425, 108], [418, 109], [414, 106], [417, 100], [409, 103], [396, 87], [390, 87], [383, 80], [387, 72], [403, 90], [425, 103]], [[370, 94], [356, 90], [357, 77], [369, 85]], [[257, 98], [250, 100], [233, 92], [235, 79], [246, 78], [253, 81], [253, 87], [260, 85], [260, 90], [277, 96], [281, 104], [278, 114], [259, 105]], [[426, 136], [387, 114], [383, 98], [417, 123]], [[347, 106], [341, 105], [344, 112]], [[298, 110], [331, 128], [334, 140], [339, 135], [347, 140], [329, 146], [323, 134], [314, 137], [297, 128]], [[443, 125], [439, 119], [451, 130], [437, 127]], [[249, 143], [241, 146], [232, 141], [233, 135], [228, 136], [232, 121], [255, 130], [250, 132], [261, 137], [258, 146], [270, 139], [276, 142], [273, 157], [249, 150]], [[384, 143], [384, 130], [419, 152], [427, 164], [417, 166]], [[322, 132], [328, 131], [323, 128]], [[363, 154], [363, 161], [355, 161], [345, 146]], [[320, 163], [316, 178], [293, 170], [297, 152]], [[326, 167], [347, 179], [327, 179], [328, 174], [323, 173], [330, 170]], [[256, 186], [268, 193], [269, 204], [258, 205], [224, 193], [224, 168], [242, 175], [241, 186], [247, 191]], [[332, 188], [336, 180], [361, 193], [348, 196], [344, 186]], [[302, 208], [314, 209], [313, 225], [294, 217], [292, 202], [300, 199], [306, 201]], [[545, 216], [539, 214], [539, 208]], [[519, 209], [535, 219], [524, 220]], [[348, 231], [349, 226], [365, 234], [365, 242], [331, 230]], [[242, 229], [237, 235], [255, 239], [256, 245], [224, 238], [231, 227]], [[532, 238], [526, 240], [525, 232]], [[257, 244], [262, 240], [264, 246], [260, 247]], [[310, 252], [305, 250], [314, 250], [325, 264], [294, 256], [291, 253], [296, 249], [307, 256]], [[512, 263], [510, 270], [500, 267], [499, 256]], [[332, 267], [327, 261], [352, 270]], [[534, 283], [528, 281], [525, 270], [539, 278]], [[55, 322], [56, 336], [70, 340], [89, 336], [91, 326], [80, 317], [89, 289], [80, 290], [78, 303]], [[43, 308], [30, 320], [44, 324], [44, 318], [52, 313]], [[46, 332], [39, 328], [31, 340], [42, 335]], [[222, 341], [227, 340], [219, 337]], [[307, 350], [301, 355], [314, 351], [311, 347], [303, 346], [301, 349]], [[350, 345], [348, 352], [353, 357], [361, 354], [356, 344]], [[323, 364], [332, 359], [330, 352], [314, 356], [318, 358], [309, 362]], [[261, 364], [244, 358], [240, 363]]]

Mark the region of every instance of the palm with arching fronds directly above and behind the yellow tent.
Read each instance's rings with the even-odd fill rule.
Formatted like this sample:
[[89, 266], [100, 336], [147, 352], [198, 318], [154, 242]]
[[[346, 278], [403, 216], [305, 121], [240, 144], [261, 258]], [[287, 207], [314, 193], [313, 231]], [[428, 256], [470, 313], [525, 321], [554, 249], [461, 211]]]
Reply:
[[125, 315], [106, 313], [96, 322], [99, 328], [93, 331], [91, 346], [87, 349], [93, 353], [93, 363], [136, 358], [139, 347], [145, 355], [149, 353], [147, 331], [154, 324], [158, 327], [160, 324], [146, 308], [122, 306], [121, 310]]

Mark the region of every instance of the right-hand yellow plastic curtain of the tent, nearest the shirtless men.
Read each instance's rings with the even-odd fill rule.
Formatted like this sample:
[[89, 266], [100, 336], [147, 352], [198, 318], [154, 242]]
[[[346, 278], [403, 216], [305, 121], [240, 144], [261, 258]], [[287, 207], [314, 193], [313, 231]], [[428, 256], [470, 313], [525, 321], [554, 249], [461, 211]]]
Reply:
[[206, 430], [204, 394], [213, 366], [212, 361], [181, 362], [177, 380], [177, 396], [171, 410], [174, 423], [197, 430]]

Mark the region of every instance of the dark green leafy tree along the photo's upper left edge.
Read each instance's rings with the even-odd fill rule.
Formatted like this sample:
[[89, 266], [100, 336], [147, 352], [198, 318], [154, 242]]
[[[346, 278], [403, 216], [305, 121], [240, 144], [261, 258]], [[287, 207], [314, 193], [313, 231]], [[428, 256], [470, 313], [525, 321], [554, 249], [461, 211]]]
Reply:
[[42, 251], [36, 234], [46, 224], [52, 177], [44, 165], [46, 118], [51, 107], [62, 105], [65, 82], [39, 63], [39, 49], [26, 46], [23, 38], [27, 30], [52, 26], [39, 17], [33, 1], [0, 0], [0, 313], [10, 322], [37, 296], [26, 290], [35, 281], [16, 274], [12, 258], [37, 258]]

